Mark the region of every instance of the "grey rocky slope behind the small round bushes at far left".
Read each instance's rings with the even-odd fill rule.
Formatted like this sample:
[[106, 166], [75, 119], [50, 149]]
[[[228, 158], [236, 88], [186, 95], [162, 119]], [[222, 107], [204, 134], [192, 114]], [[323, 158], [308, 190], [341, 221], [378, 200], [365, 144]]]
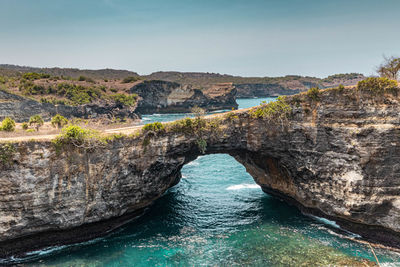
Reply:
[[90, 104], [75, 107], [40, 103], [29, 98], [0, 91], [0, 120], [5, 117], [11, 117], [17, 122], [24, 122], [36, 114], [40, 114], [45, 120], [49, 120], [56, 114], [61, 114], [67, 118], [102, 120], [140, 118], [135, 113], [135, 107], [128, 107], [113, 101], [97, 100]]

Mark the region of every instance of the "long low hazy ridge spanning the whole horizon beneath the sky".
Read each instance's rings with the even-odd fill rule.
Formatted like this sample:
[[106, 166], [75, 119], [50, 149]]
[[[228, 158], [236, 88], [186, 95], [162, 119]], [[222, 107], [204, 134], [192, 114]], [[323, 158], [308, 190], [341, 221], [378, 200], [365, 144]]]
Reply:
[[[77, 79], [85, 76], [94, 80], [123, 80], [136, 77], [142, 80], [162, 80], [176, 82], [181, 85], [192, 85], [197, 89], [210, 88], [213, 84], [233, 83], [237, 88], [238, 97], [266, 97], [278, 95], [291, 95], [306, 91], [311, 87], [319, 88], [336, 87], [339, 84], [354, 85], [365, 77], [359, 73], [335, 74], [326, 78], [309, 76], [287, 75], [284, 77], [241, 77], [228, 74], [208, 72], [176, 72], [159, 71], [150, 75], [139, 76], [136, 72], [127, 70], [101, 69], [80, 70], [72, 68], [35, 68], [0, 64], [0, 76], [21, 76], [23, 73], [36, 72], [50, 76], [70, 77]], [[135, 80], [135, 79], [133, 79]]]

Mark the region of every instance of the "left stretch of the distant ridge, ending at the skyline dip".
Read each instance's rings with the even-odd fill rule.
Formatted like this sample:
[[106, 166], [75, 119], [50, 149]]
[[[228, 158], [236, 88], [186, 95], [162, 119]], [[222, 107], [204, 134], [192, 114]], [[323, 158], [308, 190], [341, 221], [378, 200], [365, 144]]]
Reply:
[[74, 68], [36, 68], [27, 66], [17, 66], [0, 64], [0, 75], [4, 76], [17, 76], [21, 73], [36, 72], [45, 73], [51, 76], [64, 76], [77, 78], [79, 76], [86, 76], [92, 79], [124, 79], [126, 77], [139, 77], [136, 72], [128, 70], [114, 70], [114, 69], [100, 69], [100, 70], [81, 70]]

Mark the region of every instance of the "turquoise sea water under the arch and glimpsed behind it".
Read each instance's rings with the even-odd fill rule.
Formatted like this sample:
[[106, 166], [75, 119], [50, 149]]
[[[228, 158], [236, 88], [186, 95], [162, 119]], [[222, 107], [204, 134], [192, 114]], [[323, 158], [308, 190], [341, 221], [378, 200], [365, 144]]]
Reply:
[[[239, 108], [267, 99], [239, 99]], [[181, 118], [151, 115], [144, 123]], [[148, 211], [109, 236], [32, 253], [27, 266], [365, 266], [368, 246], [263, 193], [229, 155], [201, 156]], [[400, 254], [375, 249], [382, 266]]]

